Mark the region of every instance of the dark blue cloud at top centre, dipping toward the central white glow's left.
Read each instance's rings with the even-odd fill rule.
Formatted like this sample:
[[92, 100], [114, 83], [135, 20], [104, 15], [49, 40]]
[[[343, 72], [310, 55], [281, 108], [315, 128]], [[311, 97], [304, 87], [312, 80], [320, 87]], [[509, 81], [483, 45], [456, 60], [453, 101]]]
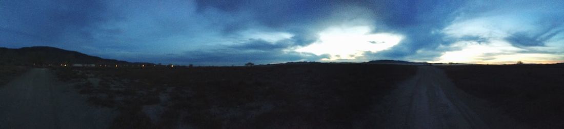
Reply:
[[[354, 1], [196, 1], [198, 10], [217, 9], [229, 14], [250, 13], [250, 19], [229, 22], [223, 26], [224, 33], [234, 33], [255, 27], [255, 22], [271, 29], [294, 34], [296, 45], [309, 45], [318, 38], [321, 29], [338, 24], [340, 20], [330, 19], [337, 8], [345, 8]], [[369, 13], [369, 12], [367, 12]], [[343, 17], [350, 19], [351, 17]], [[352, 17], [354, 18], [354, 16]], [[366, 17], [369, 18], [369, 17]], [[335, 23], [332, 23], [335, 22]]]

